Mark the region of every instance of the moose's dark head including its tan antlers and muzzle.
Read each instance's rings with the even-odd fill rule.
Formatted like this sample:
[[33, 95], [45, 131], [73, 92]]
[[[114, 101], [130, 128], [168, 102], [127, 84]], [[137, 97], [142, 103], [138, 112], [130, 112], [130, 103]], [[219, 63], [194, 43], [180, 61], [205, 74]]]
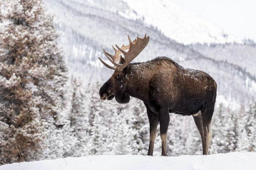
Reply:
[[[137, 38], [132, 42], [128, 35], [129, 44], [123, 45], [119, 48], [116, 45], [115, 55], [107, 53], [104, 49], [103, 52], [109, 59], [109, 61], [114, 65], [114, 67], [105, 63], [101, 58], [100, 61], [109, 69], [114, 70], [113, 75], [109, 80], [103, 84], [100, 88], [100, 98], [101, 100], [112, 100], [114, 97], [119, 103], [127, 103], [130, 100], [130, 95], [126, 92], [128, 88], [129, 79], [126, 74], [129, 72], [129, 64], [135, 57], [137, 57], [140, 52], [147, 46], [149, 42], [149, 36], [145, 34], [143, 38]], [[129, 49], [129, 50], [128, 50]], [[128, 50], [127, 52], [125, 50]], [[121, 56], [123, 54], [124, 58]], [[119, 64], [116, 63], [119, 61]]]

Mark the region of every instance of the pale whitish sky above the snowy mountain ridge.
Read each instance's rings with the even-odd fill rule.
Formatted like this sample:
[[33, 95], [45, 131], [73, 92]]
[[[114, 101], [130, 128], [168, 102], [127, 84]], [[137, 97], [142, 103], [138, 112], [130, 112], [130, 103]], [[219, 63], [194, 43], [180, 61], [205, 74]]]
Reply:
[[182, 9], [223, 28], [237, 38], [256, 42], [256, 0], [171, 0]]

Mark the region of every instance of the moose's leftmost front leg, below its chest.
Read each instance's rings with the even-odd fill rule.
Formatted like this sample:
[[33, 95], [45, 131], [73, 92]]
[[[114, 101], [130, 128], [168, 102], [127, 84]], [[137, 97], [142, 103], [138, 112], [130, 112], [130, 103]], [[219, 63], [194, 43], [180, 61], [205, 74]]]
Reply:
[[149, 135], [150, 135], [149, 150], [147, 152], [147, 155], [153, 156], [154, 142], [156, 139], [156, 130], [157, 130], [158, 122], [159, 122], [159, 116], [158, 116], [158, 114], [152, 112], [147, 105], [146, 105], [146, 108], [147, 108], [147, 116], [149, 119]]

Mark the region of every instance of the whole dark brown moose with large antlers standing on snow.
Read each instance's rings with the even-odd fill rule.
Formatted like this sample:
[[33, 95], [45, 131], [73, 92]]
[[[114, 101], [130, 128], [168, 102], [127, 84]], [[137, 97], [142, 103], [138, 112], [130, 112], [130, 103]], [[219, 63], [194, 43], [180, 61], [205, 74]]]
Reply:
[[117, 49], [112, 46], [115, 55], [103, 49], [114, 67], [99, 57], [107, 68], [114, 70], [113, 75], [100, 88], [100, 99], [112, 100], [115, 97], [119, 103], [128, 103], [132, 96], [144, 102], [149, 119], [149, 156], [153, 155], [159, 122], [162, 156], [167, 156], [169, 113], [192, 115], [201, 136], [203, 155], [207, 155], [216, 100], [217, 84], [214, 79], [201, 70], [183, 68], [167, 57], [130, 63], [147, 46], [149, 36], [137, 36], [132, 42], [128, 35], [128, 39], [130, 43], [126, 46], [119, 48], [116, 45]]

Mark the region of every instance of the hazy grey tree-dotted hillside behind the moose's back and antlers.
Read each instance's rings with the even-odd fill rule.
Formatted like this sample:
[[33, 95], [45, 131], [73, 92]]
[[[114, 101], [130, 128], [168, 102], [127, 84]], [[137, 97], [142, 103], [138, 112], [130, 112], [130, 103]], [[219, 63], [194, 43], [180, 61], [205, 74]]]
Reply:
[[[64, 49], [71, 73], [81, 76], [85, 82], [92, 79], [105, 81], [111, 75], [112, 71], [103, 67], [97, 58], [101, 56], [106, 60], [102, 48], [113, 53], [111, 45], [128, 44], [127, 34], [134, 39], [137, 34], [142, 36], [147, 33], [150, 36], [149, 44], [135, 61], [168, 56], [184, 67], [208, 72], [216, 79], [218, 95], [225, 96], [226, 100], [245, 103], [254, 100], [256, 79], [251, 72], [247, 72], [239, 64], [234, 65], [228, 61], [204, 56], [189, 46], [171, 40], [142, 20], [128, 19], [127, 16], [115, 11], [120, 8], [120, 4], [123, 6], [121, 11], [129, 9], [123, 1], [112, 0], [112, 6], [104, 4], [105, 2], [102, 5], [100, 0], [46, 2], [50, 13], [56, 15], [59, 42]], [[109, 6], [112, 8], [109, 9]]]

